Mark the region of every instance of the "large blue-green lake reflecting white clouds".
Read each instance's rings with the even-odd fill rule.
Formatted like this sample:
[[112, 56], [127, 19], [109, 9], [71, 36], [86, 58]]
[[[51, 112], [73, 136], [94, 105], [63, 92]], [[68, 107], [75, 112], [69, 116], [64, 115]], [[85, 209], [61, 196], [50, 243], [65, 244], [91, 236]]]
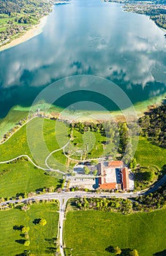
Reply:
[[[118, 110], [118, 92], [114, 99], [107, 97], [111, 81], [131, 101], [121, 108], [165, 94], [165, 31], [146, 15], [122, 7], [99, 0], [55, 4], [41, 34], [1, 51], [0, 118], [17, 105], [29, 108], [46, 86], [60, 79], [54, 86], [56, 100], [43, 99], [61, 108], [88, 110], [91, 104], [75, 102], [94, 102], [95, 110]], [[95, 90], [96, 81], [97, 88], [107, 88], [105, 95]], [[59, 94], [65, 86], [67, 91]]]

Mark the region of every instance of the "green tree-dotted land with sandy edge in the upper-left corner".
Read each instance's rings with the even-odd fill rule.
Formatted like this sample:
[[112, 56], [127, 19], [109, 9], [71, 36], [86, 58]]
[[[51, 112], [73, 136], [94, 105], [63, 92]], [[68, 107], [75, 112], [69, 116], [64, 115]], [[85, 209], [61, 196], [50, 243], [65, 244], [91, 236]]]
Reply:
[[[33, 10], [33, 4], [29, 4], [29, 8], [26, 6], [21, 7], [20, 10], [19, 0], [15, 1], [15, 5], [17, 5], [17, 2], [18, 12], [14, 12], [13, 10], [13, 13], [10, 11], [10, 5], [5, 9], [3, 6], [1, 7], [0, 4], [0, 51], [20, 45], [42, 33], [48, 15], [53, 11], [53, 5], [67, 4], [69, 3], [69, 0], [49, 0], [47, 5], [45, 3], [43, 4], [42, 1], [41, 3], [39, 1], [39, 12], [38, 9]], [[41, 7], [44, 8], [44, 10], [42, 10]], [[34, 18], [35, 15], [37, 15], [37, 18]]]

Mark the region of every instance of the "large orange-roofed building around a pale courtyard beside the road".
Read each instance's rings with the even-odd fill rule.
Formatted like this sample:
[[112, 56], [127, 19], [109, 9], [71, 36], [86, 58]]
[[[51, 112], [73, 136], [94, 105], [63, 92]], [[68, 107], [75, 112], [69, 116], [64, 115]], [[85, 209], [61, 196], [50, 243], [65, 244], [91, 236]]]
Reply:
[[99, 163], [99, 189], [129, 190], [129, 170], [122, 161]]

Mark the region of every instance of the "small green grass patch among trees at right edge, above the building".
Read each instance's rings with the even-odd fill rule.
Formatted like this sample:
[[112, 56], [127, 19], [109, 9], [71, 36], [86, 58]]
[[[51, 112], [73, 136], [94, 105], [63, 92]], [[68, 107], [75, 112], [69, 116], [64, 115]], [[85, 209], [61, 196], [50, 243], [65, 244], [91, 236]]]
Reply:
[[161, 169], [166, 164], [166, 150], [153, 145], [147, 138], [140, 137], [135, 158], [141, 166], [156, 165]]

